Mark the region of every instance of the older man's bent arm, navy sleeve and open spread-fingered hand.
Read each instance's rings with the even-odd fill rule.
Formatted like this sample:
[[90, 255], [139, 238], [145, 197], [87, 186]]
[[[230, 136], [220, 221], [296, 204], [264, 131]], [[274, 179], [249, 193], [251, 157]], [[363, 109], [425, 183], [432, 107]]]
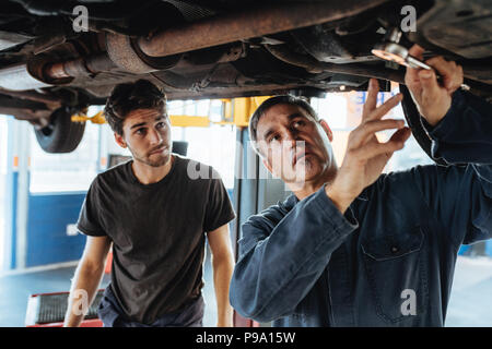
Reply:
[[[329, 185], [295, 205], [292, 202], [290, 212], [272, 206], [243, 225], [231, 282], [231, 304], [243, 316], [268, 322], [292, 314], [318, 281], [331, 253], [359, 227], [351, 202], [410, 136], [401, 120], [382, 120], [401, 95], [376, 107], [377, 92], [377, 81], [372, 80], [362, 122], [351, 132], [343, 164]], [[390, 140], [379, 143], [375, 133], [391, 129], [397, 131]]]

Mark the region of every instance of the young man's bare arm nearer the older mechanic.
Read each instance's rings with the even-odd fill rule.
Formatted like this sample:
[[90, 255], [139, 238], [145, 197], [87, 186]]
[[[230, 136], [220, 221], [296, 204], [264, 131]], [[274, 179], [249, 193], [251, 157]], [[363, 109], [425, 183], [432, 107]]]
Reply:
[[233, 326], [233, 309], [229, 300], [229, 286], [234, 269], [234, 257], [225, 224], [207, 234], [212, 252], [213, 285], [215, 288], [218, 327]]

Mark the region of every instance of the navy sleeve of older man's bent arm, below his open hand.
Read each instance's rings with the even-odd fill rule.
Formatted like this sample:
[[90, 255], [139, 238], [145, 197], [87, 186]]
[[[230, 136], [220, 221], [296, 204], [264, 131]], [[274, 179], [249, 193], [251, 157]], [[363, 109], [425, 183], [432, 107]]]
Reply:
[[284, 209], [269, 207], [242, 227], [231, 304], [258, 322], [291, 314], [318, 280], [331, 253], [358, 227], [350, 210], [347, 219], [324, 188], [286, 215]]

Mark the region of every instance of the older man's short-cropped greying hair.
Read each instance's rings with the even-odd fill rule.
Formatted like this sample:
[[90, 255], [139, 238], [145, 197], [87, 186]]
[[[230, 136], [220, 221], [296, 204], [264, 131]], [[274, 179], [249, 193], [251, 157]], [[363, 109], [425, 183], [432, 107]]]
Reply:
[[281, 96], [274, 96], [274, 97], [268, 98], [255, 110], [251, 118], [249, 119], [249, 125], [248, 125], [249, 140], [253, 142], [253, 148], [259, 155], [261, 155], [261, 153], [259, 152], [258, 147], [256, 146], [256, 142], [258, 140], [257, 131], [258, 131], [259, 119], [267, 112], [268, 109], [270, 109], [271, 107], [277, 106], [277, 105], [298, 106], [302, 109], [304, 109], [304, 111], [306, 111], [316, 121], [319, 121], [316, 111], [304, 98], [295, 97], [295, 96], [291, 96], [291, 95], [281, 95]]

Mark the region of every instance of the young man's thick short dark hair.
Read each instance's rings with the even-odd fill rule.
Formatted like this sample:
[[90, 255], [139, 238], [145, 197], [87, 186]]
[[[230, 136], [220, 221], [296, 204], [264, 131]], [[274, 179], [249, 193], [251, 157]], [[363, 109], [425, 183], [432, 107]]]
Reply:
[[112, 130], [122, 135], [126, 117], [137, 109], [155, 109], [165, 113], [166, 96], [157, 86], [144, 79], [118, 84], [107, 98], [104, 115]]

